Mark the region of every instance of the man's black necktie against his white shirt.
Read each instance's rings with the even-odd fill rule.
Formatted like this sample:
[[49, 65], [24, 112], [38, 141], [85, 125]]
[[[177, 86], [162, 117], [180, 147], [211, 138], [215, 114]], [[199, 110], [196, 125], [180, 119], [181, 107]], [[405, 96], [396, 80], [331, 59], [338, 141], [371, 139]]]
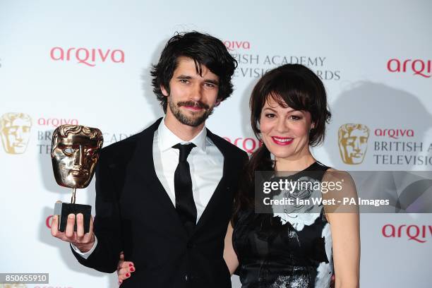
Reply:
[[174, 173], [174, 190], [176, 193], [176, 211], [181, 222], [190, 234], [196, 226], [196, 205], [193, 200], [191, 169], [187, 161], [188, 155], [195, 144], [177, 144], [172, 148], [179, 149], [179, 164]]

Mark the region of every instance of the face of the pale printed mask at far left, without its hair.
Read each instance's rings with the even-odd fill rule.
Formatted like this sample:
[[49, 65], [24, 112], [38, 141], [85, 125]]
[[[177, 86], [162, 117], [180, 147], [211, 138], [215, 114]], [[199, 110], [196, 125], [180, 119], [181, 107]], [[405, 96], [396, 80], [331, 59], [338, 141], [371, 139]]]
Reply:
[[27, 119], [17, 118], [1, 131], [4, 149], [11, 154], [21, 154], [27, 148], [30, 139], [31, 123]]

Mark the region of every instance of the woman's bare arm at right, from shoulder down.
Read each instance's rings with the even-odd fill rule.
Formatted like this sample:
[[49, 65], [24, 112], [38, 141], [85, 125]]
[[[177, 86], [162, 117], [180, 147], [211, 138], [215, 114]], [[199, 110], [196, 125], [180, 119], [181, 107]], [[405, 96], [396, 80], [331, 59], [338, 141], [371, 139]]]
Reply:
[[[342, 181], [342, 191], [323, 194], [323, 198], [353, 197], [357, 200], [354, 181], [347, 172], [329, 169], [323, 181]], [[335, 267], [335, 288], [359, 287], [360, 274], [360, 224], [358, 208], [355, 205], [325, 207], [325, 216], [332, 233], [333, 263]]]

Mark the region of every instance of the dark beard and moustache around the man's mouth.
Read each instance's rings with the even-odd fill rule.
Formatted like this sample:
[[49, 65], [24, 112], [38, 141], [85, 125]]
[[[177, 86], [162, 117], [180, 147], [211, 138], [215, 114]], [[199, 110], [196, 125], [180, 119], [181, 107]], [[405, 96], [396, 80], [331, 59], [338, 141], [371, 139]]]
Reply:
[[[168, 96], [168, 104], [169, 109], [171, 110], [174, 117], [176, 117], [177, 120], [180, 121], [181, 124], [197, 127], [200, 126], [200, 124], [203, 124], [205, 120], [208, 119], [208, 116], [210, 116], [213, 113], [213, 107], [209, 107], [207, 104], [203, 104], [202, 102], [193, 102], [193, 101], [184, 101], [184, 102], [177, 102], [174, 103], [172, 101], [172, 97]], [[183, 112], [181, 112], [180, 108], [181, 106], [198, 106], [205, 109], [204, 113], [197, 116], [186, 116]]]

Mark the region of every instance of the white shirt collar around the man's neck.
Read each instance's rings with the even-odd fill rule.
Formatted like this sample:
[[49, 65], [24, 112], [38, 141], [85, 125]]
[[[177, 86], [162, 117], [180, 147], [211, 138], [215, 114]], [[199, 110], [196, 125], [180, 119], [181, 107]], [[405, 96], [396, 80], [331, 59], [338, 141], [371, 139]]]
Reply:
[[164, 119], [162, 119], [162, 121], [160, 122], [159, 127], [157, 128], [157, 138], [160, 144], [160, 150], [162, 152], [168, 150], [169, 148], [172, 148], [172, 146], [179, 143], [181, 144], [193, 143], [196, 145], [198, 149], [203, 150], [203, 152], [205, 152], [207, 129], [204, 126], [197, 136], [195, 136], [193, 139], [189, 141], [184, 141], [181, 140], [178, 136], [176, 136], [176, 134], [172, 133], [171, 130], [169, 130], [167, 125], [165, 125], [165, 117], [164, 117]]

